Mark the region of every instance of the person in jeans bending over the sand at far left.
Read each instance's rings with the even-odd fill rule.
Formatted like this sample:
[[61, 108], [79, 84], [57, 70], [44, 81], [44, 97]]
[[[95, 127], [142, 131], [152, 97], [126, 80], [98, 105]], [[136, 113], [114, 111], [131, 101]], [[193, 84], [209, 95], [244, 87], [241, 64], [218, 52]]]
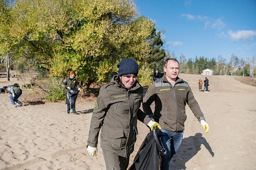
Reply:
[[12, 107], [17, 107], [15, 103], [18, 103], [19, 106], [24, 106], [24, 104], [22, 104], [22, 102], [18, 100], [19, 96], [22, 95], [22, 89], [19, 88], [19, 85], [17, 83], [8, 86], [7, 90], [9, 91], [9, 93], [11, 93], [10, 101], [12, 102]]

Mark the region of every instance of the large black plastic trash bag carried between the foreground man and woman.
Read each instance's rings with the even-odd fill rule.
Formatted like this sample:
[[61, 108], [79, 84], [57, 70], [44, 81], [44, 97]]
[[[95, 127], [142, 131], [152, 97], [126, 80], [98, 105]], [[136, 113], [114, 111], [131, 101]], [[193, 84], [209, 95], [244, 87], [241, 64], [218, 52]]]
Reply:
[[161, 166], [161, 156], [166, 155], [162, 141], [158, 136], [160, 129], [154, 128], [147, 134], [137, 152], [129, 170], [158, 170]]

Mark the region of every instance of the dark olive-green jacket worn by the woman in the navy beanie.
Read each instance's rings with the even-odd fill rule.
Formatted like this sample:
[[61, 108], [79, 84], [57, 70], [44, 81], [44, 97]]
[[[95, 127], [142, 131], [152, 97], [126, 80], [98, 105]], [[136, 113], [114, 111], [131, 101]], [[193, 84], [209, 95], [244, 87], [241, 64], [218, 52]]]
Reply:
[[127, 158], [134, 151], [138, 134], [137, 119], [146, 125], [150, 118], [139, 109], [143, 87], [136, 81], [130, 89], [120, 88], [116, 78], [100, 88], [91, 119], [88, 144], [97, 147], [101, 129], [101, 148]]

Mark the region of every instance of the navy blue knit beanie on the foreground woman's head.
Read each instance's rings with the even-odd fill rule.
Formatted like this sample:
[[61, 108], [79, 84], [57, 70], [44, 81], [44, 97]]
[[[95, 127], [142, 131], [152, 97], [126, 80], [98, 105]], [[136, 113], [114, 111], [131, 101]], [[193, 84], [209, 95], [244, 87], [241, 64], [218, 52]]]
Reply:
[[135, 74], [138, 75], [139, 72], [139, 66], [137, 62], [133, 58], [123, 58], [118, 64], [118, 75], [117, 76], [123, 76], [123, 75], [130, 75]]

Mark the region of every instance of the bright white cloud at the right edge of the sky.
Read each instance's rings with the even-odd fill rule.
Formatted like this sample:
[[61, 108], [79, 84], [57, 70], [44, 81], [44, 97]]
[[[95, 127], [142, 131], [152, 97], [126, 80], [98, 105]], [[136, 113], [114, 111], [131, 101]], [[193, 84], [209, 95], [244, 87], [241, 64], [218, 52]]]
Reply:
[[238, 42], [240, 40], [252, 40], [256, 36], [256, 32], [252, 30], [228, 31], [228, 35], [231, 41]]

